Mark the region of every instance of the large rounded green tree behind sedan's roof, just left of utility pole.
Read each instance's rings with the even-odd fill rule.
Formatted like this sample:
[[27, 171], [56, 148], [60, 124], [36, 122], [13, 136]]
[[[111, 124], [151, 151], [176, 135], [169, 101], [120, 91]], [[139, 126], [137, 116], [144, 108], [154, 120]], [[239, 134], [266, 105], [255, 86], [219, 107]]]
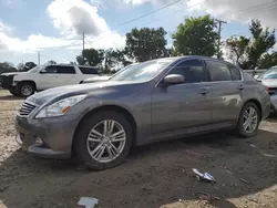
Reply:
[[174, 52], [177, 55], [215, 55], [218, 38], [215, 29], [216, 23], [209, 15], [186, 18], [172, 35]]

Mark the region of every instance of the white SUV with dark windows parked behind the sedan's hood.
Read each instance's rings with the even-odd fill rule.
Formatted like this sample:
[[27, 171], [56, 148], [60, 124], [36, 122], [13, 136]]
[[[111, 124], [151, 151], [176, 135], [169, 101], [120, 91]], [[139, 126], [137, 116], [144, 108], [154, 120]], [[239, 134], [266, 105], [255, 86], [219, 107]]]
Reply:
[[99, 69], [84, 65], [51, 64], [35, 66], [28, 72], [2, 73], [0, 85], [16, 96], [30, 96], [35, 91], [80, 84], [88, 77], [99, 76]]

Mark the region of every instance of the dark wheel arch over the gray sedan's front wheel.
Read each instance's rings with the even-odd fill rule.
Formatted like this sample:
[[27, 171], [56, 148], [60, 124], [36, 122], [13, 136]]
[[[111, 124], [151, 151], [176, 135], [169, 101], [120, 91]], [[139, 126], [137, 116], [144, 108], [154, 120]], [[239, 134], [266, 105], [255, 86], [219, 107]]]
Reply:
[[74, 134], [73, 134], [73, 141], [72, 141], [72, 146], [71, 146], [71, 149], [72, 149], [73, 154], [74, 154], [74, 143], [78, 139], [76, 138], [78, 131], [80, 129], [80, 126], [82, 125], [82, 123], [85, 122], [85, 119], [88, 119], [93, 114], [99, 113], [99, 112], [104, 112], [104, 111], [114, 111], [114, 112], [123, 114], [126, 117], [126, 119], [131, 123], [131, 125], [133, 127], [133, 141], [132, 141], [132, 145], [136, 144], [136, 122], [134, 119], [134, 116], [126, 108], [124, 108], [122, 106], [119, 106], [119, 105], [103, 105], [103, 106], [95, 107], [92, 111], [88, 112], [80, 119], [80, 122], [78, 123], [76, 128], [75, 128]]

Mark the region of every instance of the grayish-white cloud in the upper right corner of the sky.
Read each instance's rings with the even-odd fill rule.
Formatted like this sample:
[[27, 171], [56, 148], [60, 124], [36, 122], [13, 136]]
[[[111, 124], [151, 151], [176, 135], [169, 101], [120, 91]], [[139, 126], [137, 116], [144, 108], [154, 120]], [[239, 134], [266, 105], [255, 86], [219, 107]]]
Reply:
[[[202, 2], [202, 3], [201, 3]], [[196, 6], [197, 4], [197, 6]], [[277, 2], [273, 0], [188, 0], [187, 6], [227, 21], [259, 19], [263, 25], [277, 28]]]

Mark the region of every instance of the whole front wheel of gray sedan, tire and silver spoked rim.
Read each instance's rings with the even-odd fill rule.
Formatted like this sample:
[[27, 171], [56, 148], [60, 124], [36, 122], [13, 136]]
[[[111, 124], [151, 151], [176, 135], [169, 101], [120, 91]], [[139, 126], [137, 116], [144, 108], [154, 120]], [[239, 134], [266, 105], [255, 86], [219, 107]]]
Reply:
[[74, 139], [80, 160], [92, 169], [106, 169], [124, 162], [132, 146], [132, 125], [113, 111], [99, 112], [82, 122]]

